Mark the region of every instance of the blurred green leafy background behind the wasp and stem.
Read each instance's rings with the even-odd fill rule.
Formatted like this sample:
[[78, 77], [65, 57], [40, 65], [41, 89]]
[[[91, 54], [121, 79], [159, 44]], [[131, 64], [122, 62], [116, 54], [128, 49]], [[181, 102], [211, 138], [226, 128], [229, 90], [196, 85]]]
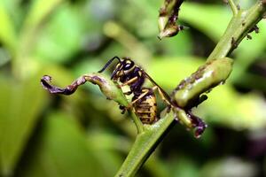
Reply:
[[[254, 0], [239, 1], [241, 7]], [[231, 11], [222, 0], [186, 1], [188, 30], [159, 41], [162, 1], [0, 1], [0, 176], [113, 176], [136, 127], [98, 87], [51, 96], [43, 74], [66, 86], [113, 56], [130, 57], [169, 93], [202, 65]], [[176, 124], [137, 176], [266, 176], [266, 21], [231, 58], [234, 70], [194, 112], [200, 139]]]

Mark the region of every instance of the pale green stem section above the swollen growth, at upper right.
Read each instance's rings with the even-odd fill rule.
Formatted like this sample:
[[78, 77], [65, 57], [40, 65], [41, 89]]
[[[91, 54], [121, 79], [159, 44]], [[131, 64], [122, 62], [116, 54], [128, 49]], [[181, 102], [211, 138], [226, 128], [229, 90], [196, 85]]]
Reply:
[[225, 58], [236, 49], [239, 42], [253, 30], [254, 26], [262, 19], [265, 13], [266, 3], [258, 1], [250, 9], [239, 10], [233, 16], [221, 40], [217, 43], [215, 50], [209, 55], [207, 61], [213, 58]]

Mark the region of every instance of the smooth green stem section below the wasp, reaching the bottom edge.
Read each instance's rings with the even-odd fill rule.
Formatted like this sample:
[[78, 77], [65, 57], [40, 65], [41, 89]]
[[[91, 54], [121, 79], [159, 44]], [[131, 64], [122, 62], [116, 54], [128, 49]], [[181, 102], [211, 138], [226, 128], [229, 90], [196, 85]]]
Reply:
[[173, 112], [167, 113], [152, 126], [145, 126], [145, 131], [137, 135], [129, 155], [121, 165], [121, 169], [115, 176], [129, 177], [134, 176], [137, 170], [145, 163], [145, 160], [153, 153], [158, 142], [167, 133], [168, 128], [174, 121]]

